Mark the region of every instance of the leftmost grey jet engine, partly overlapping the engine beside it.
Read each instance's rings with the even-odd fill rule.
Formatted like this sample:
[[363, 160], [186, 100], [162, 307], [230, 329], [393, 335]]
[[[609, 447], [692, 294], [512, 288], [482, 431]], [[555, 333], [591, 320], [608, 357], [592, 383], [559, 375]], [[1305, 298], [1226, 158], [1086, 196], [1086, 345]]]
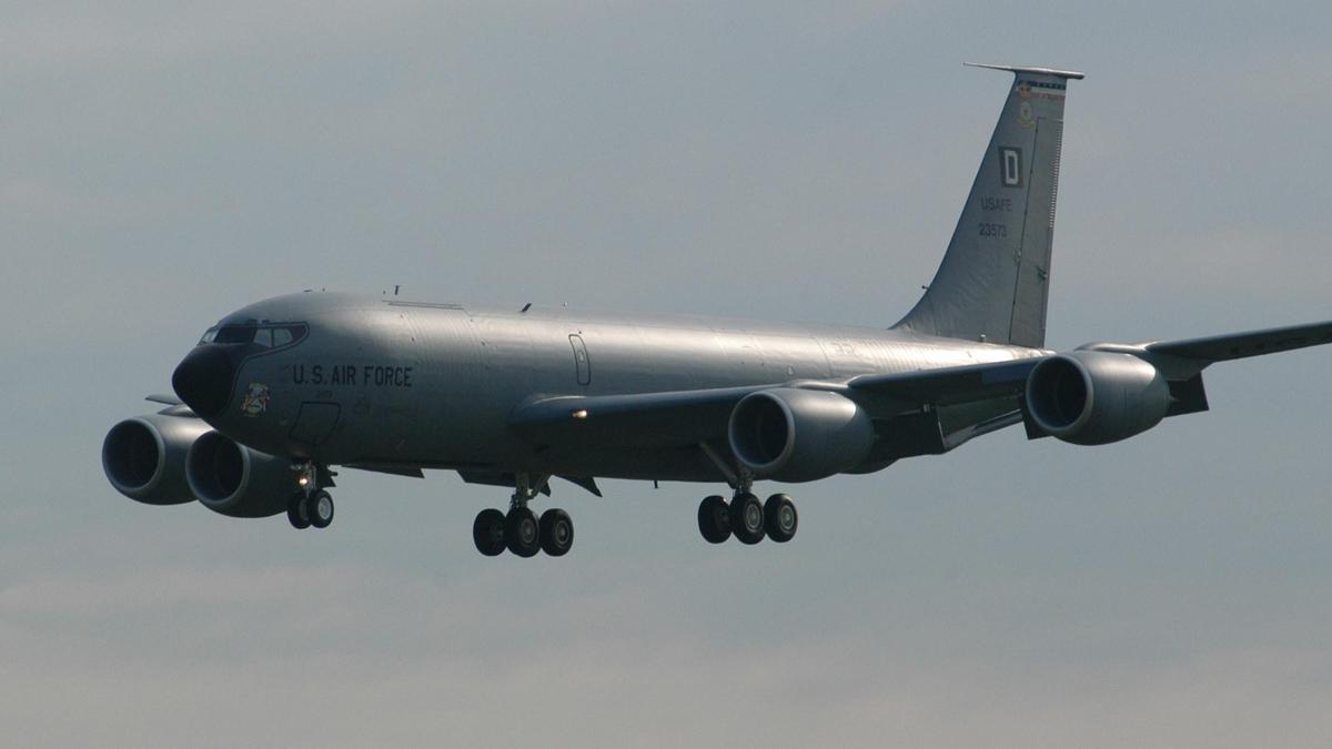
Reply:
[[101, 469], [117, 492], [149, 505], [193, 501], [185, 454], [208, 425], [170, 409], [127, 418], [101, 442]]

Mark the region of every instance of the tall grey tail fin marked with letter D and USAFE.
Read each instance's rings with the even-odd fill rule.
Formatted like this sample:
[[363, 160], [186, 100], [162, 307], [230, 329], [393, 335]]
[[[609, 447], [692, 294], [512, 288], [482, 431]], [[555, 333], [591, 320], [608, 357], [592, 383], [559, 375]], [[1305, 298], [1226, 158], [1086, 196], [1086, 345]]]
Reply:
[[1012, 88], [939, 272], [895, 328], [1042, 347], [1064, 89], [1083, 73], [974, 67], [1012, 72]]

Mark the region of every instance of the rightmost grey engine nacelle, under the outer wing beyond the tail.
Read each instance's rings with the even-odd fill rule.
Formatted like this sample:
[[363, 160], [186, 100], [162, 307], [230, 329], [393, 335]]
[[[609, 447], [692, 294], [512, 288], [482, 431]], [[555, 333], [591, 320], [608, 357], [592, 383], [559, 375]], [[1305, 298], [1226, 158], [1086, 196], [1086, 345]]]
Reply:
[[1131, 353], [1075, 351], [1027, 376], [1027, 414], [1066, 442], [1104, 445], [1156, 426], [1169, 409], [1166, 377]]

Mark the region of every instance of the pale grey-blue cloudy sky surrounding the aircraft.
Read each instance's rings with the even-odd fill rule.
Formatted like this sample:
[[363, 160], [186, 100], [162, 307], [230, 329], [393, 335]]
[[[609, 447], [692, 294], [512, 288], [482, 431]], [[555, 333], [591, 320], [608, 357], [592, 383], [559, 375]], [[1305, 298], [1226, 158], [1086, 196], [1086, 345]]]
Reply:
[[[1111, 7], [1112, 5], [1112, 7]], [[795, 492], [344, 473], [296, 533], [117, 494], [188, 347], [310, 287], [887, 325], [1010, 83], [1067, 108], [1050, 340], [1332, 317], [1325, 3], [0, 5], [0, 725], [65, 745], [1255, 746], [1332, 740], [1332, 352], [1213, 410]]]

